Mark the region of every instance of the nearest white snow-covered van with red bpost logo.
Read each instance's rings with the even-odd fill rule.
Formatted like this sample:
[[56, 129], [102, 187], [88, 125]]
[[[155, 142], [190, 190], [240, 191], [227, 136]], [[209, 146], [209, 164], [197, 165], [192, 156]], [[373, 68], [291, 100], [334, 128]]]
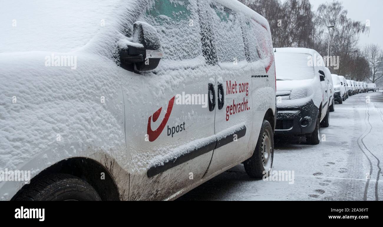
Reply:
[[241, 163], [267, 174], [268, 21], [237, 1], [112, 2], [2, 5], [32, 19], [0, 24], [0, 170], [31, 173], [1, 200], [172, 200]]

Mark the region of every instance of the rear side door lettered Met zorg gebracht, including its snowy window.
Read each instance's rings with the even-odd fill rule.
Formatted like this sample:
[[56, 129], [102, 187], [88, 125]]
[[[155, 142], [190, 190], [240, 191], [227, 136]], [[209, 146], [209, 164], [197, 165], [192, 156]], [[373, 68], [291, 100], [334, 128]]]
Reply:
[[[217, 146], [206, 176], [245, 161], [254, 148], [252, 134], [252, 68], [247, 62], [241, 29], [241, 15], [214, 1], [201, 1], [206, 9], [217, 63], [211, 66], [217, 81], [215, 133]], [[222, 34], [224, 31], [224, 35]], [[209, 70], [210, 71], [210, 70]], [[262, 116], [263, 118], [263, 116]]]

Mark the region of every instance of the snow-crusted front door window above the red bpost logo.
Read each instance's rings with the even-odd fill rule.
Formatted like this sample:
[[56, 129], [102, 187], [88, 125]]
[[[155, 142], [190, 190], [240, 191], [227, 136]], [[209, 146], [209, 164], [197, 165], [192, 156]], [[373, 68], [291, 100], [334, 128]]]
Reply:
[[196, 0], [152, 0], [141, 18], [159, 33], [164, 60], [202, 56]]

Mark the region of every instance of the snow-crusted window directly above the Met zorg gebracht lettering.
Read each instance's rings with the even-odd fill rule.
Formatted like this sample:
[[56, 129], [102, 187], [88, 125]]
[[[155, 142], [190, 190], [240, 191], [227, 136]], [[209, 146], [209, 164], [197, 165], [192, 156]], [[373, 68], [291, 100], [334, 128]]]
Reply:
[[218, 62], [246, 60], [239, 15], [217, 3], [211, 3], [210, 8], [212, 18], [210, 24]]

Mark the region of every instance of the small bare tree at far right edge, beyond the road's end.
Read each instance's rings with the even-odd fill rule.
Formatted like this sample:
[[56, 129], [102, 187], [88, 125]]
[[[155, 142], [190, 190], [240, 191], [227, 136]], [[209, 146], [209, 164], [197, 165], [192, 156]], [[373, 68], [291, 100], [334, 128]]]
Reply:
[[364, 47], [364, 56], [370, 65], [368, 79], [376, 83], [383, 76], [383, 51], [379, 45], [368, 44]]

